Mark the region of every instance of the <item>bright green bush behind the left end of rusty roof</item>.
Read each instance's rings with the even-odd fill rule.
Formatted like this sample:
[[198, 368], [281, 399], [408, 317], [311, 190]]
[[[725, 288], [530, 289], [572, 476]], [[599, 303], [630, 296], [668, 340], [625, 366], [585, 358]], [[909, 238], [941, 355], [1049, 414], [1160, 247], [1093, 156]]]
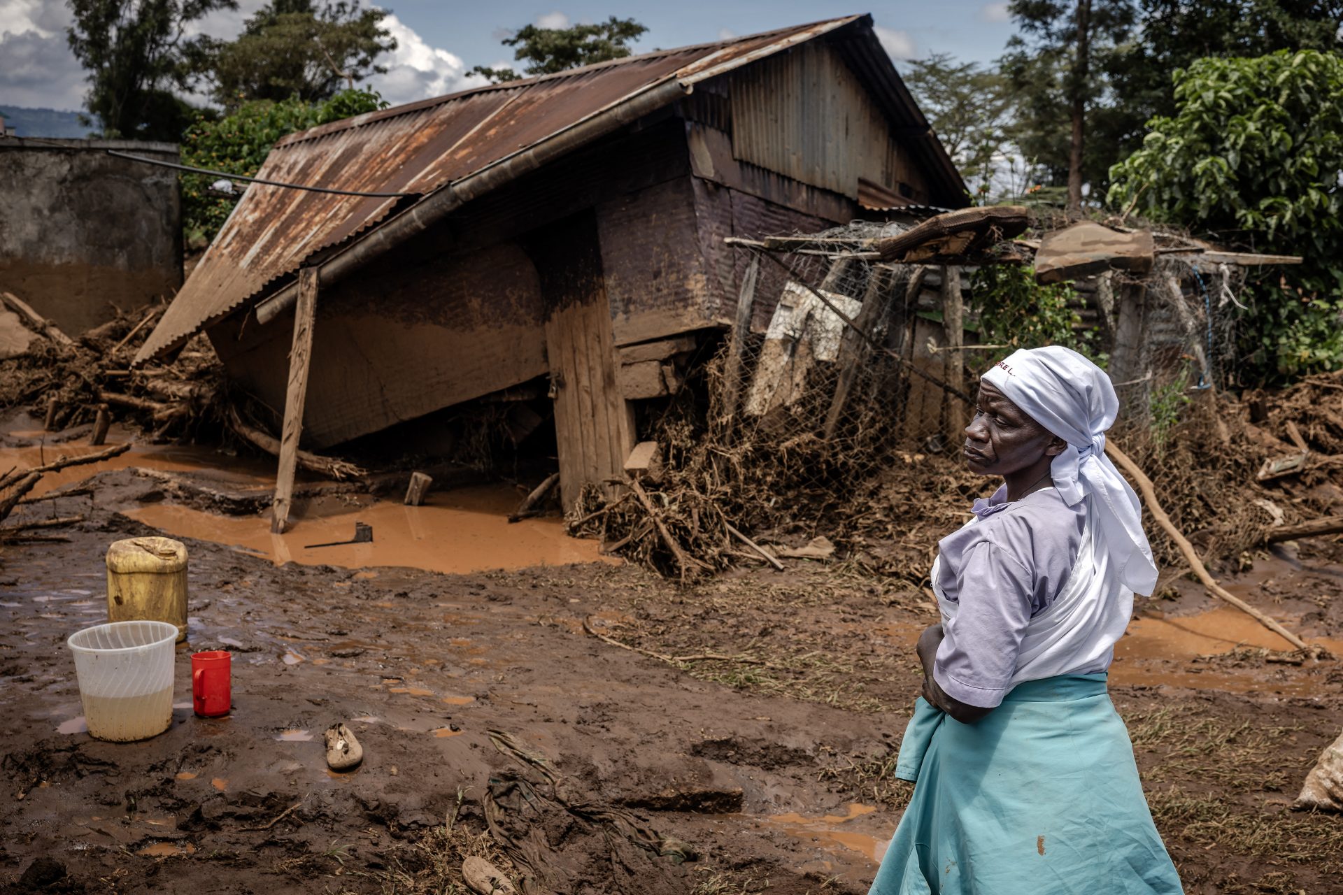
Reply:
[[[257, 101], [243, 103], [231, 115], [219, 119], [201, 114], [183, 134], [181, 160], [185, 165], [251, 177], [281, 137], [385, 109], [387, 105], [376, 93], [345, 90], [325, 102], [308, 103], [298, 98]], [[212, 240], [234, 209], [235, 199], [210, 195], [210, 185], [216, 180], [211, 174], [183, 174], [183, 228], [188, 246]]]

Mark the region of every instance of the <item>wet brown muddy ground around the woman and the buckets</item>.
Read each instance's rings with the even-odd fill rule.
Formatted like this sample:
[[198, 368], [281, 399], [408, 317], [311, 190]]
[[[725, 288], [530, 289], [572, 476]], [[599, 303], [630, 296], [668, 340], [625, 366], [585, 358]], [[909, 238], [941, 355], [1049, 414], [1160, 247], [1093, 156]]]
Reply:
[[[157, 468], [130, 455], [44, 483], [93, 474], [91, 496], [26, 510], [85, 521], [60, 529], [68, 542], [0, 547], [8, 891], [457, 892], [467, 853], [530, 868], [544, 892], [866, 891], [908, 798], [889, 770], [933, 619], [919, 586], [807, 561], [690, 589], [600, 562], [395, 568], [367, 546], [301, 549], [341, 513], [391, 513], [328, 494], [273, 550], [246, 531], [181, 538], [172, 727], [105, 743], [83, 730], [63, 641], [105, 619], [107, 543], [157, 533], [142, 518], [177, 537], [220, 507], [265, 526], [246, 464], [165, 478], [163, 456], [138, 463]], [[400, 539], [427, 542], [415, 556], [478, 550], [479, 519], [455, 538], [407, 518]], [[1285, 545], [1229, 580], [1343, 653], [1340, 560], [1336, 542]], [[1283, 645], [1183, 580], [1121, 644], [1113, 698], [1189, 892], [1343, 892], [1343, 817], [1288, 810], [1343, 727], [1343, 663]], [[188, 655], [211, 648], [234, 653], [223, 719], [189, 708]], [[364, 745], [355, 773], [325, 766], [337, 721]]]

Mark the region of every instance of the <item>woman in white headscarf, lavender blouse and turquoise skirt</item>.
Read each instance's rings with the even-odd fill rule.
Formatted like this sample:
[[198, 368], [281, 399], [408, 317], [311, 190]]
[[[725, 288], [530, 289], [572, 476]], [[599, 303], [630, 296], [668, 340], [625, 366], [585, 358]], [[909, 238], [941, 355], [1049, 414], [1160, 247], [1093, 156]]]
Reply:
[[1052, 346], [984, 373], [971, 471], [1003, 486], [939, 543], [941, 624], [896, 777], [917, 781], [872, 895], [1180, 892], [1105, 670], [1156, 566], [1105, 456], [1119, 400]]

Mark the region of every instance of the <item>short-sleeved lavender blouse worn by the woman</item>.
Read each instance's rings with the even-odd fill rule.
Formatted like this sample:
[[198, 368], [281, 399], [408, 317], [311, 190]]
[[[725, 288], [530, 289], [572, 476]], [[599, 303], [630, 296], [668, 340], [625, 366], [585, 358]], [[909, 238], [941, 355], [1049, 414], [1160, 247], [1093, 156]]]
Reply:
[[[1062, 590], [1081, 546], [1084, 503], [1068, 506], [1056, 488], [1007, 501], [1002, 486], [976, 499], [979, 517], [937, 545], [937, 584], [959, 602], [943, 625], [933, 680], [971, 706], [1002, 702], [1015, 672], [1026, 624]], [[1105, 671], [1109, 662], [1076, 674]]]

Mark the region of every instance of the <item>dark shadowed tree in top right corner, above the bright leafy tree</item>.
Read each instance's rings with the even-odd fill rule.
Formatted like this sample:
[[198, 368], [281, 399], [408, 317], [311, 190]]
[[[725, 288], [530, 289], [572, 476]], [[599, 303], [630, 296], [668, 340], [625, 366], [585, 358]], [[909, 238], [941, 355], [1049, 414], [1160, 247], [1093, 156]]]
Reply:
[[1343, 50], [1339, 0], [1139, 0], [1140, 38], [1108, 60], [1112, 95], [1093, 134], [1109, 164], [1142, 146], [1144, 125], [1175, 114], [1171, 72], [1205, 56]]

